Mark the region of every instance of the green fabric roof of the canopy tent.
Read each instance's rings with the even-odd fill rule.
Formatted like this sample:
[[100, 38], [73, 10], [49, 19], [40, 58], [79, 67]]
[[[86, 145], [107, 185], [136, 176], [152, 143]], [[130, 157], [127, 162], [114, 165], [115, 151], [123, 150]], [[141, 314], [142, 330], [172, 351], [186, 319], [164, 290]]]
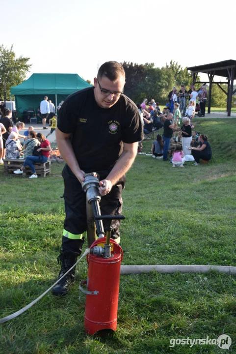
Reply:
[[78, 74], [32, 74], [22, 84], [12, 87], [11, 94], [71, 94], [91, 86]]

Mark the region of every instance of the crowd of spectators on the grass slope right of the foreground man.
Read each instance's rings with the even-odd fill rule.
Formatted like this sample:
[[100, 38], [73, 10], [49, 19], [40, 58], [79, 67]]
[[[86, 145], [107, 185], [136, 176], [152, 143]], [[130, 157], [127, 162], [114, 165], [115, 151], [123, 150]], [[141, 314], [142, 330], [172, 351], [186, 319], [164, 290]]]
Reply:
[[[187, 97], [189, 97], [188, 104]], [[194, 165], [198, 166], [200, 159], [205, 161], [211, 159], [212, 151], [208, 137], [193, 130], [192, 118], [195, 114], [197, 97], [201, 115], [205, 116], [207, 100], [205, 86], [201, 86], [198, 92], [193, 85], [190, 85], [188, 91], [182, 85], [179, 92], [174, 87], [169, 92], [169, 102], [162, 111], [159, 103], [156, 103], [154, 99], [149, 104], [147, 99], [144, 99], [141, 104], [137, 104], [144, 136], [148, 137], [152, 131], [163, 128], [162, 136], [157, 134], [157, 139], [152, 144], [153, 158], [162, 158], [163, 161], [171, 160], [173, 167], [184, 167], [185, 161], [194, 161]], [[142, 151], [142, 147], [140, 141], [139, 152]]]

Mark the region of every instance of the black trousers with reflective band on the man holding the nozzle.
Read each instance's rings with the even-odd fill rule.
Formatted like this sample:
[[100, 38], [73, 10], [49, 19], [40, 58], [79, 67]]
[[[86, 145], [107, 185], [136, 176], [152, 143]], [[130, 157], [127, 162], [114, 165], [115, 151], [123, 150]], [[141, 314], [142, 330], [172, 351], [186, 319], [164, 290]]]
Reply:
[[[100, 180], [105, 179], [109, 170], [94, 171], [100, 175]], [[62, 171], [64, 178], [64, 200], [65, 200], [65, 221], [62, 236], [62, 249], [65, 251], [81, 253], [84, 236], [87, 230], [86, 222], [86, 193], [83, 192], [81, 183], [72, 173], [70, 168], [65, 165]], [[120, 215], [122, 212], [123, 201], [121, 197], [122, 189], [125, 187], [125, 176], [112, 187], [111, 191], [105, 196], [101, 196], [102, 215]], [[103, 221], [104, 228], [109, 225], [109, 221]], [[111, 237], [120, 237], [120, 220], [112, 220]]]

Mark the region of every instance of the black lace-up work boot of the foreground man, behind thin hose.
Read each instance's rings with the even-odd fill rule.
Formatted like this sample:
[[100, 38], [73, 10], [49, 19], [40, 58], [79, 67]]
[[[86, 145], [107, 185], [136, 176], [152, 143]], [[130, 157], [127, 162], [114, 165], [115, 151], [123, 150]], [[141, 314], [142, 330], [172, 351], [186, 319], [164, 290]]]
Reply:
[[[58, 264], [61, 264], [61, 270], [58, 279], [67, 272], [77, 261], [78, 254], [61, 250], [57, 257]], [[74, 267], [58, 284], [52, 289], [53, 295], [65, 295], [69, 292], [69, 287], [75, 281], [76, 267]]]

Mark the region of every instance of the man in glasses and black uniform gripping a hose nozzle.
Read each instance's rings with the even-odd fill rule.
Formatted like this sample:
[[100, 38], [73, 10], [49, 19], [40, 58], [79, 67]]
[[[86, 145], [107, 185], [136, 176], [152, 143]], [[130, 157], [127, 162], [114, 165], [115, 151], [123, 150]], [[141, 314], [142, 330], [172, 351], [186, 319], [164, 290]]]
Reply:
[[[62, 172], [66, 217], [59, 276], [75, 264], [87, 230], [86, 195], [81, 188], [84, 173], [100, 175], [102, 215], [121, 214], [125, 173], [143, 139], [138, 109], [123, 94], [124, 85], [123, 66], [116, 61], [105, 62], [94, 79], [94, 87], [70, 95], [59, 110], [56, 141], [66, 162]], [[111, 237], [119, 242], [117, 221], [111, 225]], [[52, 293], [66, 294], [74, 280], [75, 268]]]

